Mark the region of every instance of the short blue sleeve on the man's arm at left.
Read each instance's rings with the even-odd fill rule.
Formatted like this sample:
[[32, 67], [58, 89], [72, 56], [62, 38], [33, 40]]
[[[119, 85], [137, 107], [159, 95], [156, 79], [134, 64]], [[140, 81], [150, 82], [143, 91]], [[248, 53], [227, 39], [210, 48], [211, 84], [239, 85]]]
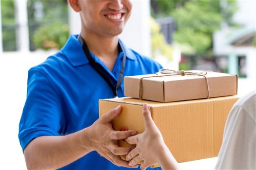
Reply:
[[22, 150], [39, 136], [59, 136], [60, 100], [47, 77], [38, 70], [28, 73], [27, 99], [19, 126]]

